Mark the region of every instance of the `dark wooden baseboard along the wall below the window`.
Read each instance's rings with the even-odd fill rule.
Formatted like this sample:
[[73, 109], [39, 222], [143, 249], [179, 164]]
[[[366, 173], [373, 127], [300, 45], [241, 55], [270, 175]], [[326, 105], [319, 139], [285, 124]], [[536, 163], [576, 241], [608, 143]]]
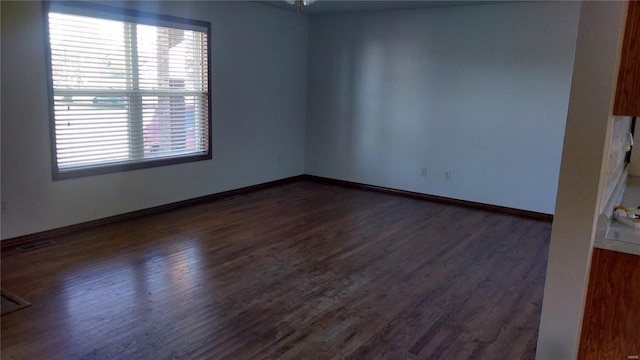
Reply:
[[73, 224], [73, 225], [64, 226], [61, 228], [37, 232], [34, 234], [17, 236], [14, 238], [2, 240], [0, 242], [0, 250], [6, 251], [9, 248], [15, 248], [15, 247], [26, 245], [35, 241], [42, 241], [44, 239], [49, 239], [51, 237], [69, 234], [79, 230], [85, 230], [88, 228], [92, 228], [94, 226], [111, 224], [118, 221], [128, 220], [128, 219], [132, 219], [140, 216], [146, 216], [146, 215], [156, 214], [164, 211], [179, 209], [187, 206], [202, 204], [209, 201], [215, 201], [215, 200], [224, 199], [231, 196], [242, 195], [242, 194], [250, 193], [253, 191], [262, 190], [265, 188], [282, 185], [282, 184], [286, 184], [294, 181], [299, 181], [303, 179], [304, 179], [304, 175], [297, 175], [297, 176], [292, 176], [284, 179], [269, 181], [262, 184], [251, 185], [251, 186], [247, 186], [239, 189], [223, 191], [220, 193], [205, 195], [205, 196], [201, 196], [193, 199], [182, 200], [182, 201], [177, 201], [170, 204], [155, 206], [148, 209], [142, 209], [142, 210], [132, 211], [124, 214], [109, 216], [102, 219], [91, 220], [91, 221], [83, 222], [80, 224]]

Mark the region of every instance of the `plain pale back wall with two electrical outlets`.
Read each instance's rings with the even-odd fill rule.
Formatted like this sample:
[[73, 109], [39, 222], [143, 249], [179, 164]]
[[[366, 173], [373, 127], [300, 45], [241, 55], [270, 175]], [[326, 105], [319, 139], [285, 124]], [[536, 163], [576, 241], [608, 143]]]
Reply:
[[312, 17], [306, 172], [553, 213], [579, 7]]

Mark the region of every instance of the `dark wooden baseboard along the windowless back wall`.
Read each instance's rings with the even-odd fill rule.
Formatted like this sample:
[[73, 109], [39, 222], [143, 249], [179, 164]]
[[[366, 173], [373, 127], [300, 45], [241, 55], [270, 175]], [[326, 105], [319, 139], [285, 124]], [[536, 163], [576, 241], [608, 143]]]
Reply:
[[315, 176], [315, 175], [303, 175], [302, 177], [304, 180], [316, 181], [316, 182], [325, 183], [325, 184], [346, 186], [346, 187], [363, 189], [363, 190], [373, 190], [373, 191], [379, 191], [387, 194], [408, 196], [416, 199], [437, 201], [437, 202], [450, 204], [450, 205], [458, 205], [458, 206], [465, 206], [465, 207], [470, 207], [475, 209], [495, 211], [495, 212], [515, 215], [520, 217], [533, 218], [538, 220], [544, 220], [544, 221], [553, 221], [552, 214], [545, 214], [545, 213], [540, 213], [535, 211], [514, 209], [514, 208], [498, 206], [498, 205], [483, 204], [483, 203], [474, 202], [474, 201], [459, 200], [459, 199], [453, 199], [453, 198], [448, 198], [444, 196], [429, 195], [429, 194], [423, 194], [423, 193], [407, 191], [407, 190], [398, 190], [398, 189], [393, 189], [393, 188], [388, 188], [383, 186], [368, 185], [368, 184], [362, 184], [362, 183], [346, 181], [346, 180], [337, 180], [337, 179], [325, 178], [325, 177]]

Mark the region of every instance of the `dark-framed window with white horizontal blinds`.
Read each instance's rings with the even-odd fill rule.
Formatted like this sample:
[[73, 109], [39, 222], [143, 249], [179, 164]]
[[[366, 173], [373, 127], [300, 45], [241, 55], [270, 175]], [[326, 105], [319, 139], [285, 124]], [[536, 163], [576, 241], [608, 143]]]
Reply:
[[211, 159], [209, 23], [44, 6], [54, 179]]

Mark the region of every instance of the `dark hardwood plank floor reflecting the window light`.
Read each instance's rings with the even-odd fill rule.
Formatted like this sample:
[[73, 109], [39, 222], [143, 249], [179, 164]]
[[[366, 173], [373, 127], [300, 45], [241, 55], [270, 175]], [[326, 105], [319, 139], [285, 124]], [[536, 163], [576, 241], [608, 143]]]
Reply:
[[297, 181], [2, 253], [2, 359], [533, 359], [551, 223]]

